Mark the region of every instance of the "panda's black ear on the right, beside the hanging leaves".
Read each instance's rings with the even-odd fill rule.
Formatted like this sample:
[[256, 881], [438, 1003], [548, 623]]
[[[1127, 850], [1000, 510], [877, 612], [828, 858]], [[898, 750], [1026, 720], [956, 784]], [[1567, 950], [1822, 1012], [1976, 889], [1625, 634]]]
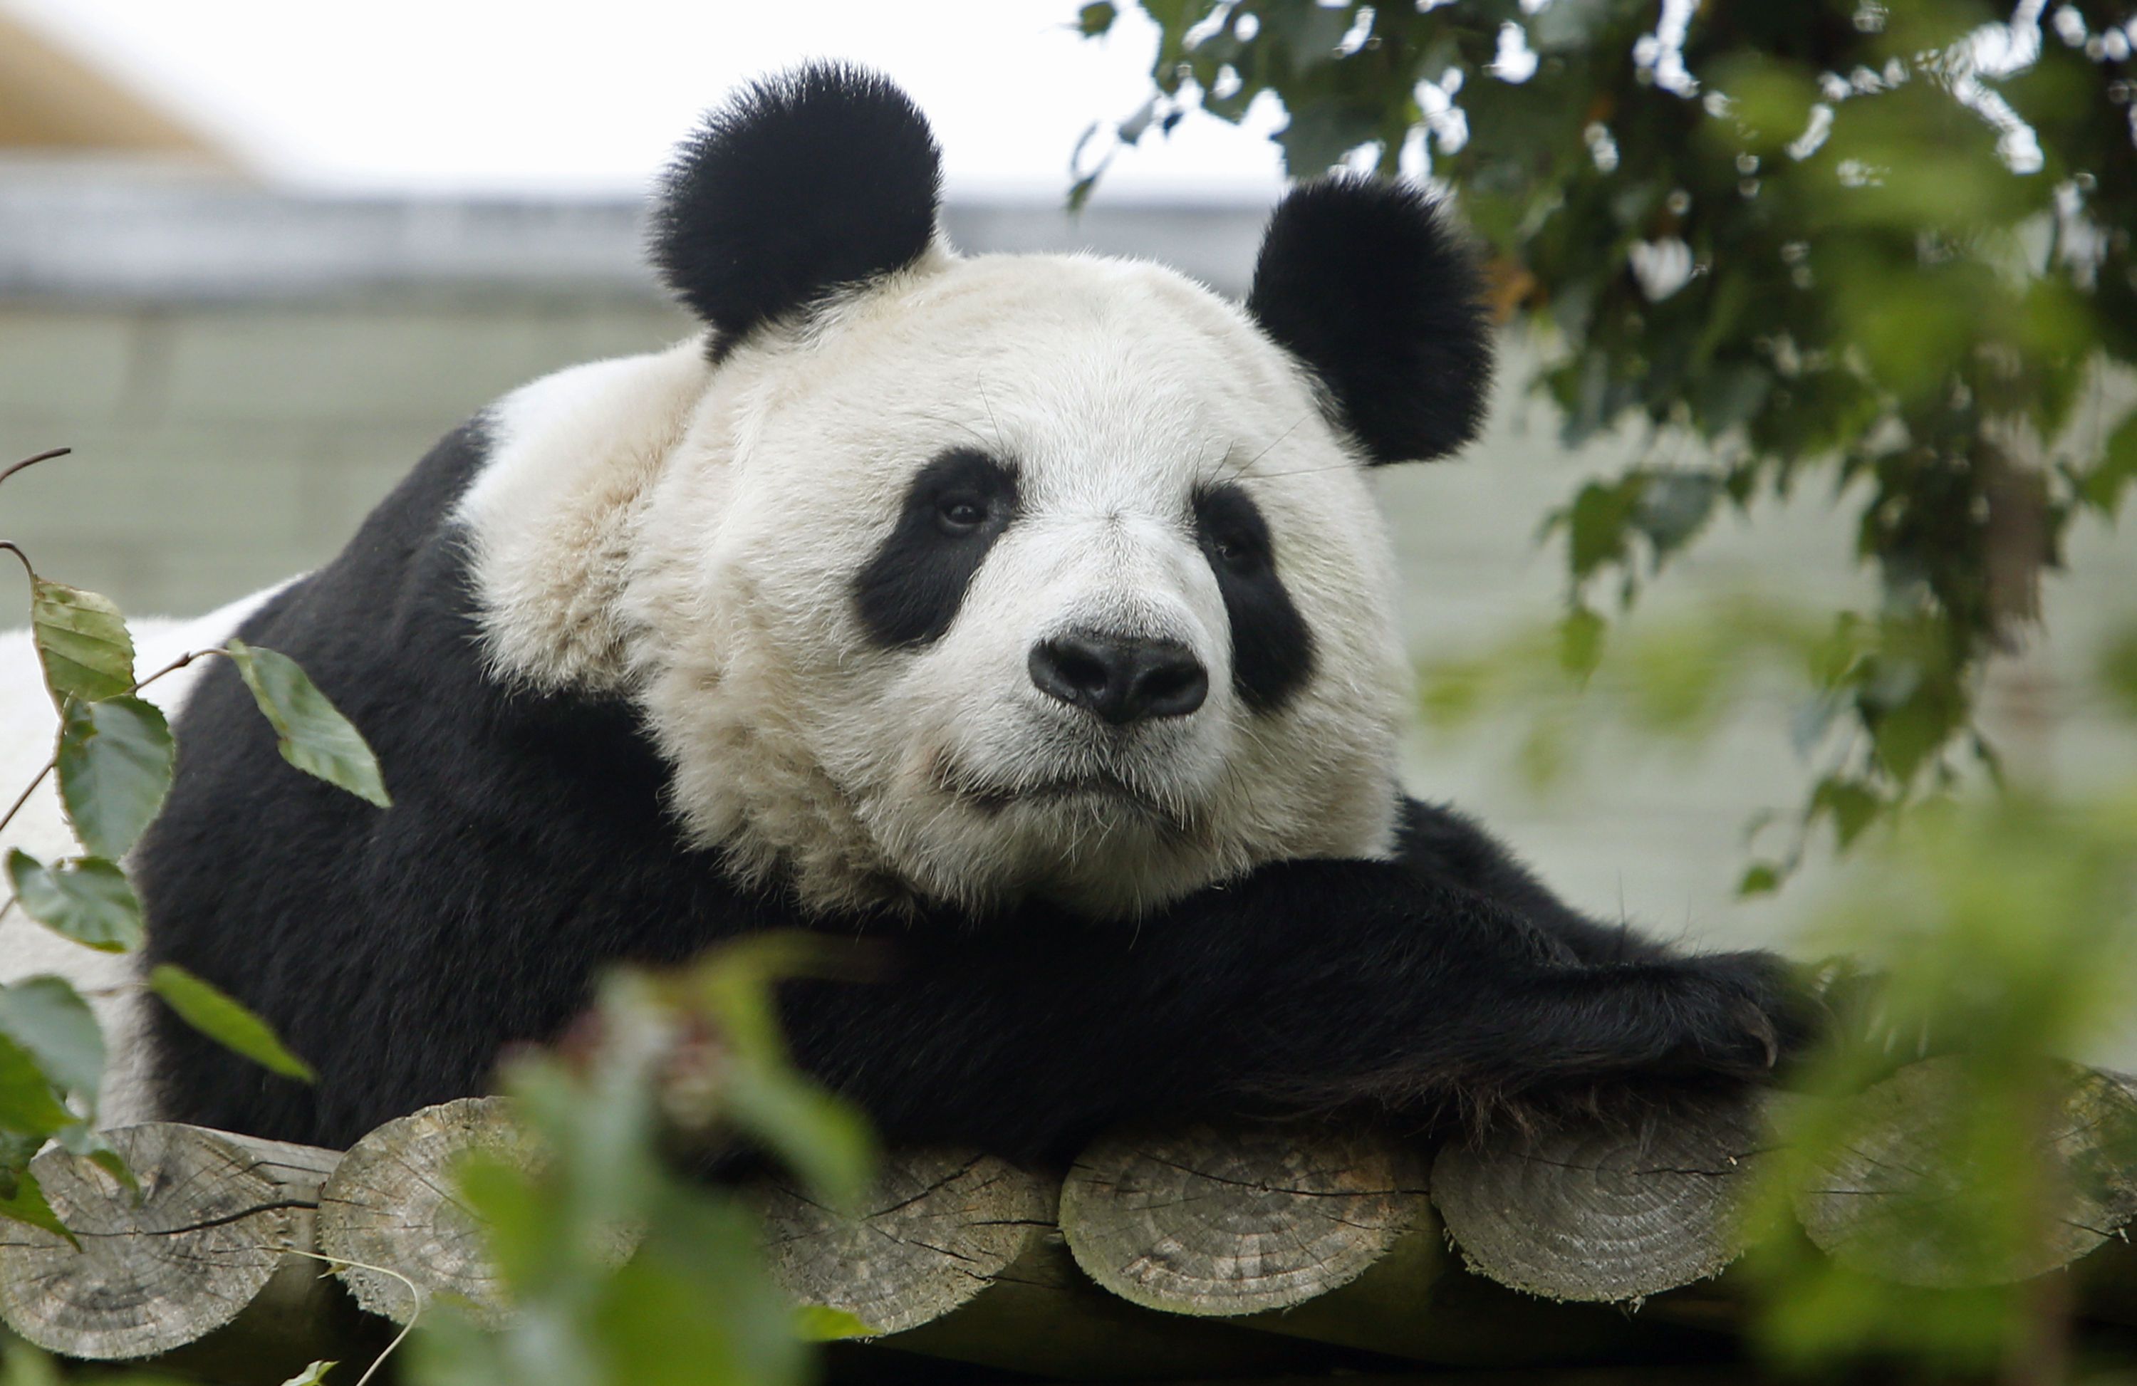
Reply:
[[1442, 457], [1477, 436], [1492, 384], [1483, 280], [1425, 192], [1353, 175], [1295, 188], [1246, 308], [1321, 376], [1370, 461]]

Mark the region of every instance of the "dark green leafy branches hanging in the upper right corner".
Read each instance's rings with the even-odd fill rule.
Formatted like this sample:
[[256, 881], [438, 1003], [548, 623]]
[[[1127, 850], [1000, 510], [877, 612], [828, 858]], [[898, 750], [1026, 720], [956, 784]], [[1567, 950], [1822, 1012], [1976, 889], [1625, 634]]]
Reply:
[[1628, 604], [1718, 506], [1823, 468], [1885, 602], [1836, 690], [1859, 735], [1804, 814], [1857, 824], [1964, 769], [1983, 660], [2037, 615], [2071, 519], [2111, 519], [2137, 476], [2137, 419], [2096, 419], [2103, 363], [2137, 361], [2137, 11], [1141, 9], [1156, 92], [1120, 141], [1276, 100], [1293, 175], [1438, 179], [1492, 250], [1496, 308], [1556, 344], [1537, 387], [1564, 440], [1637, 423], [1701, 444], [1554, 515], [1577, 613], [1603, 583]]

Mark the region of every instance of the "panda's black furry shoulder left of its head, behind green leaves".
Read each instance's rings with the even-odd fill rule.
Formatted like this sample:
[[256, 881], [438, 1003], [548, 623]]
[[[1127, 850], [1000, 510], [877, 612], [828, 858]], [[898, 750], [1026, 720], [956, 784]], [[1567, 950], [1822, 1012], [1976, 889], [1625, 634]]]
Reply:
[[288, 767], [227, 662], [175, 720], [177, 775], [135, 856], [147, 961], [254, 1008], [323, 1078], [265, 1076], [152, 1010], [175, 1119], [340, 1149], [483, 1091], [500, 1044], [553, 1038], [605, 963], [791, 923], [682, 841], [626, 698], [487, 668], [455, 523], [487, 457], [481, 421], [449, 436], [239, 628], [363, 733], [391, 809]]

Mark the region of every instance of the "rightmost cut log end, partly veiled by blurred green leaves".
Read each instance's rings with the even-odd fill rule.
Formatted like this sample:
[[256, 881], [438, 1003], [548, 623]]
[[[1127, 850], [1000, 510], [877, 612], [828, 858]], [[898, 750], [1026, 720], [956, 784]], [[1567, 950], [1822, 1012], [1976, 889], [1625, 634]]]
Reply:
[[1996, 1286], [2045, 1275], [2086, 1256], [2137, 1215], [2137, 1140], [2131, 1081], [2069, 1070], [2034, 1155], [2047, 1175], [2043, 1237], [1983, 1245], [1953, 1209], [1977, 1181], [2026, 1170], [1972, 1168], [1964, 1153], [1975, 1115], [1966, 1068], [1943, 1055], [1908, 1064], [1846, 1102], [1836, 1147], [1816, 1160], [1795, 1215], [1821, 1251], [1866, 1275], [1904, 1286]]

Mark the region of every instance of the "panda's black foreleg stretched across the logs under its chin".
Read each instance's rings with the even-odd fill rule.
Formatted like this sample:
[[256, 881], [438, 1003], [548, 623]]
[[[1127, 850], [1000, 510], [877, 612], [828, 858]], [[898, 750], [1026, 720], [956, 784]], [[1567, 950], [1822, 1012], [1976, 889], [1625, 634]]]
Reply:
[[1742, 1083], [1808, 1034], [1780, 959], [1584, 963], [1389, 863], [1265, 867], [1141, 927], [1028, 908], [885, 942], [878, 982], [789, 989], [799, 1059], [891, 1140], [1024, 1157], [1126, 1121]]

